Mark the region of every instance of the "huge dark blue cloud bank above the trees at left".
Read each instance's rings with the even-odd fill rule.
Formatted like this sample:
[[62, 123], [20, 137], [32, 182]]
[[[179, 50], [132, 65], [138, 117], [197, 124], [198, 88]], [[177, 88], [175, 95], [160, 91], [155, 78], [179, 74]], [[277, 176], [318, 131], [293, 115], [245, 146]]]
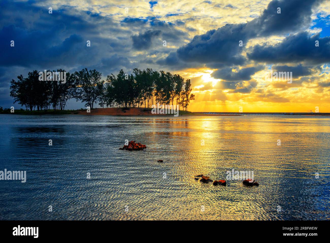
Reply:
[[[57, 7], [49, 14], [48, 6], [36, 6], [32, 1], [1, 2], [0, 68], [3, 72], [0, 73], [0, 95], [5, 95], [0, 97], [2, 104], [13, 103], [9, 97], [11, 79], [20, 74], [26, 77], [34, 69], [63, 68], [74, 72], [85, 67], [95, 68], [105, 78], [119, 69], [131, 72], [135, 67], [146, 68], [149, 65], [139, 62], [146, 55], [141, 58], [131, 52], [130, 36], [138, 31], [160, 33], [164, 30], [163, 34], [172, 45], [188, 38], [187, 33], [155, 18], [126, 18], [117, 23], [111, 17], [75, 7]], [[14, 47], [10, 46], [12, 40], [15, 41]], [[87, 40], [91, 42], [90, 47], [86, 46]], [[171, 50], [162, 48], [160, 51]]]

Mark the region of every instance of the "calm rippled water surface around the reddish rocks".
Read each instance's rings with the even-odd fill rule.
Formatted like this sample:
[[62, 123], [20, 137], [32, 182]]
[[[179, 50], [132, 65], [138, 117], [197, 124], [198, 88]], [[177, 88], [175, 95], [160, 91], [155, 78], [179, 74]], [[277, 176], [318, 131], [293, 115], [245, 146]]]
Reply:
[[[0, 115], [0, 122], [0, 170], [27, 177], [0, 181], [0, 220], [330, 219], [328, 117]], [[125, 139], [147, 150], [118, 150]], [[253, 171], [260, 186], [194, 180], [225, 179], [232, 169]]]

